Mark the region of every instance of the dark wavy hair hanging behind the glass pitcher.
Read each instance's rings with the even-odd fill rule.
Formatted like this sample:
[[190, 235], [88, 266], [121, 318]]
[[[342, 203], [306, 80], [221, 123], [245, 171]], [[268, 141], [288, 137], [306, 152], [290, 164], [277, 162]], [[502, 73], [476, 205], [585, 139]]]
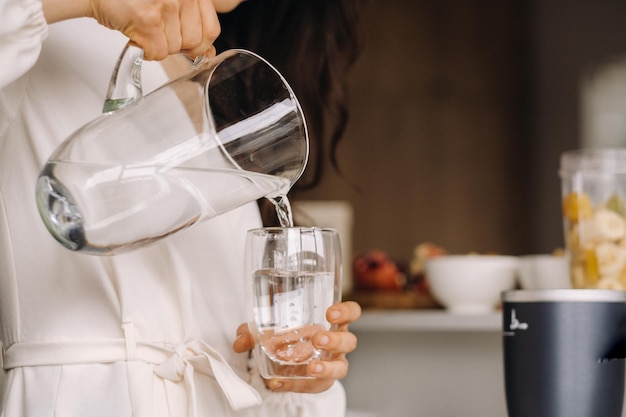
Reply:
[[309, 128], [311, 154], [294, 190], [315, 187], [336, 156], [346, 124], [346, 75], [358, 54], [358, 24], [366, 0], [248, 0], [220, 15], [218, 53], [256, 52], [293, 88]]

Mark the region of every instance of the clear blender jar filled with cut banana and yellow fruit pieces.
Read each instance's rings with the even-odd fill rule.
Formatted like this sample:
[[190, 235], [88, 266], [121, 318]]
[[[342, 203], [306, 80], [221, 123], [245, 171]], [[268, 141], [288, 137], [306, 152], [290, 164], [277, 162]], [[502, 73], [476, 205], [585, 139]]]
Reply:
[[626, 289], [626, 149], [565, 152], [560, 175], [572, 286]]

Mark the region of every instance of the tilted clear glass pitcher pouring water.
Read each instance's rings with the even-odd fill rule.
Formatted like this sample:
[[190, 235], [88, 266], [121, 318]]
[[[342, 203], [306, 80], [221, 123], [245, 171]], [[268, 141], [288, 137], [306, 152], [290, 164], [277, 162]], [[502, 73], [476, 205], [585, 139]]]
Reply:
[[127, 45], [104, 114], [38, 178], [39, 213], [70, 250], [122, 253], [259, 198], [280, 200], [306, 166], [300, 104], [263, 58], [229, 50], [145, 96], [142, 62]]

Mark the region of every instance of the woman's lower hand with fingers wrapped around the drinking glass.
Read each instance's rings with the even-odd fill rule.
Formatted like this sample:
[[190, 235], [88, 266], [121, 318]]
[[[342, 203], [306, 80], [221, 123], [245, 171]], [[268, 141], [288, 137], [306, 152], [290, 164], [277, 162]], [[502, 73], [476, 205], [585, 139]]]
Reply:
[[[307, 365], [307, 375], [315, 379], [281, 379], [266, 380], [267, 387], [274, 391], [291, 391], [301, 393], [318, 393], [330, 388], [335, 380], [344, 378], [348, 373], [346, 354], [352, 352], [357, 345], [356, 336], [350, 333], [348, 325], [361, 316], [361, 307], [353, 301], [334, 304], [326, 311], [329, 323], [337, 325], [335, 331], [321, 330], [313, 336], [313, 345], [332, 354], [328, 360], [313, 360]], [[233, 349], [243, 353], [254, 347], [254, 337], [247, 324], [237, 329], [237, 339]]]

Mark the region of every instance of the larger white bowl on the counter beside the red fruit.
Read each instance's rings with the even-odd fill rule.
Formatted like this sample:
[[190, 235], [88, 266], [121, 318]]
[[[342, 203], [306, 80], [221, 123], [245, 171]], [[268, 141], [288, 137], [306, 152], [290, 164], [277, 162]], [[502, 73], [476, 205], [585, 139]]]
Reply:
[[426, 262], [432, 296], [451, 313], [492, 312], [515, 288], [518, 259], [504, 255], [446, 255]]

